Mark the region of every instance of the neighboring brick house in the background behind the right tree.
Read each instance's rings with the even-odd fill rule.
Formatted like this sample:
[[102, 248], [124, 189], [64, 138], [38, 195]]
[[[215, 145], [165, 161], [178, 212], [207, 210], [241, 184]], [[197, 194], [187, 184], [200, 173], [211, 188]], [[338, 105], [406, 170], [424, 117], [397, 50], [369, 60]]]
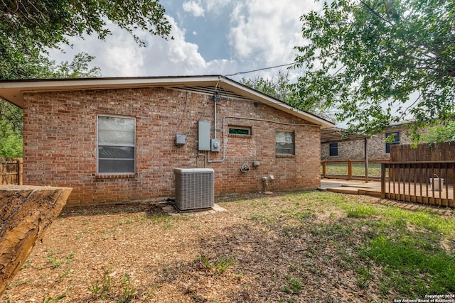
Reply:
[[[410, 144], [408, 123], [391, 124], [383, 133], [367, 139], [368, 160], [390, 158], [390, 146], [394, 144]], [[385, 142], [393, 136], [392, 142]], [[361, 136], [359, 136], [361, 137]], [[360, 160], [365, 158], [365, 141], [363, 138], [342, 140], [341, 135], [333, 141], [321, 143], [321, 159], [323, 160]]]

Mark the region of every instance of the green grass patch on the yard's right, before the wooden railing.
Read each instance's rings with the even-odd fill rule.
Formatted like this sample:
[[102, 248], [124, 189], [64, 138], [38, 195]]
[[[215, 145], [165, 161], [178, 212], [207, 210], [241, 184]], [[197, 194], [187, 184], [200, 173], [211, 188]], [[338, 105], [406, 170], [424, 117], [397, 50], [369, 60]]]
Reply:
[[[321, 214], [328, 211], [346, 214], [294, 226], [288, 234], [298, 237], [306, 231], [322, 247], [335, 248], [334, 260], [340, 268], [355, 272], [359, 290], [378, 285], [378, 292], [385, 297], [400, 294], [410, 298], [455, 291], [453, 217], [329, 192], [289, 194], [286, 199], [282, 214], [307, 223], [320, 220]], [[319, 247], [309, 248], [306, 253], [321, 255]], [[291, 293], [290, 283], [282, 290]]]

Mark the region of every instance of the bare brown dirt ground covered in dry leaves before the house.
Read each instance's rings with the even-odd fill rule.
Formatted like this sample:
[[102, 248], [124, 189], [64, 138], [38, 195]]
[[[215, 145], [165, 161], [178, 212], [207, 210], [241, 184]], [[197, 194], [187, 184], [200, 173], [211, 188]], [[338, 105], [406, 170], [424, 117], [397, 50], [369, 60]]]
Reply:
[[[339, 222], [348, 218], [338, 209], [282, 194], [215, 203], [226, 211], [168, 216], [154, 204], [63, 209], [1, 302], [56, 302], [63, 295], [60, 302], [378, 302], [395, 296], [380, 294], [374, 279], [359, 283], [346, 265], [361, 236], [343, 231]], [[335, 221], [340, 230], [310, 232]]]

